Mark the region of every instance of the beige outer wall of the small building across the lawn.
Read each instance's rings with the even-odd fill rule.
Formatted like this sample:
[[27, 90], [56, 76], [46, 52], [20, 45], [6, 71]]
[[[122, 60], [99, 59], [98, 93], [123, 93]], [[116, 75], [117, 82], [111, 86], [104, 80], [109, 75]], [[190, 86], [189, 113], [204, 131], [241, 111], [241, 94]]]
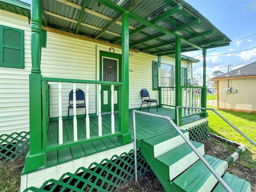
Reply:
[[[219, 108], [256, 112], [255, 78], [219, 80], [218, 83]], [[224, 88], [228, 86], [231, 91], [230, 93], [225, 93]], [[237, 90], [236, 93], [233, 93], [234, 89]]]

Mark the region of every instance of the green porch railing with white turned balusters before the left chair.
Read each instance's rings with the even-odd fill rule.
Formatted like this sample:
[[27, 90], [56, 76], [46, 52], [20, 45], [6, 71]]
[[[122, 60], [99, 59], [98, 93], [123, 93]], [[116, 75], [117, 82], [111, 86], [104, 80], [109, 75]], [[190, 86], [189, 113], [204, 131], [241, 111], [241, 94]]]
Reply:
[[[124, 129], [123, 116], [119, 115], [119, 124], [118, 129], [114, 128], [114, 100], [111, 99], [111, 124], [109, 125], [109, 132], [102, 132], [102, 121], [101, 121], [101, 86], [110, 85], [111, 89], [111, 98], [114, 97], [114, 86], [118, 86], [118, 100], [122, 100], [122, 92], [124, 90], [123, 82], [106, 82], [106, 81], [92, 81], [92, 80], [78, 80], [78, 79], [62, 79], [62, 78], [42, 78], [42, 152], [48, 152], [52, 150], [58, 150], [61, 148], [66, 148], [70, 146], [76, 146], [79, 144], [84, 144], [87, 142], [92, 142], [96, 140], [102, 140], [105, 138], [121, 136], [126, 134], [127, 131]], [[62, 136], [62, 122], [67, 119], [66, 112], [68, 109], [68, 95], [70, 90], [76, 90], [80, 88], [85, 93], [86, 98], [86, 134], [81, 138], [81, 135], [78, 135], [77, 131], [77, 119], [76, 117], [84, 117], [83, 114], [76, 114], [74, 110], [73, 118], [73, 140], [63, 140]], [[64, 99], [63, 99], [64, 98]], [[75, 97], [74, 97], [75, 98]], [[56, 101], [58, 100], [58, 104]], [[50, 105], [51, 102], [51, 105]], [[55, 103], [55, 104], [54, 104]], [[58, 106], [58, 111], [56, 111]], [[92, 111], [92, 112], [90, 112]], [[120, 114], [124, 113], [124, 108], [122, 105], [119, 105], [118, 111]], [[62, 115], [63, 114], [63, 115]], [[98, 116], [98, 135], [90, 135], [90, 116]], [[73, 117], [73, 116], [72, 116]], [[58, 120], [58, 128], [56, 127], [56, 132], [54, 135], [58, 139], [55, 143], [49, 143], [48, 138], [48, 129], [50, 120]]]

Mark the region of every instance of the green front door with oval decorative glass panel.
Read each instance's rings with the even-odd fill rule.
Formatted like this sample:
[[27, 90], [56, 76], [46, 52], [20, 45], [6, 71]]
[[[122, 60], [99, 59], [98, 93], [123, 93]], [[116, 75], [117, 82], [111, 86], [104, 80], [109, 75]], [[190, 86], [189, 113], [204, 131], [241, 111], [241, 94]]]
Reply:
[[[100, 52], [100, 80], [110, 82], [121, 81], [121, 55]], [[118, 86], [114, 86], [114, 111], [118, 111]], [[111, 112], [110, 85], [101, 86], [101, 112]]]

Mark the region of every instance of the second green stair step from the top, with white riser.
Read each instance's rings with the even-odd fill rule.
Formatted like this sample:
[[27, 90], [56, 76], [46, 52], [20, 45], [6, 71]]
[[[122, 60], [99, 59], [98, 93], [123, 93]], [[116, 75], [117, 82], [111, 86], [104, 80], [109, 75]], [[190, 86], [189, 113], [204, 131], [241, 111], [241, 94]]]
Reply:
[[[192, 144], [197, 148], [200, 154], [204, 155], [204, 144], [191, 141]], [[198, 160], [198, 156], [188, 146], [187, 143], [181, 144], [180, 146], [158, 156], [156, 163], [163, 166], [168, 174], [168, 179], [171, 181], [194, 162]]]

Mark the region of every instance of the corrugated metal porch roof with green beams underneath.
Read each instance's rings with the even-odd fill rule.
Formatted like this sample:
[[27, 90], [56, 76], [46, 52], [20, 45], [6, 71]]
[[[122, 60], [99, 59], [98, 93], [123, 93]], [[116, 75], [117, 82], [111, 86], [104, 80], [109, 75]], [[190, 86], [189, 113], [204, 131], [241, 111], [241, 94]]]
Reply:
[[[8, 10], [10, 2], [19, 1], [0, 0], [1, 9]], [[122, 12], [128, 12], [130, 48], [158, 56], [175, 54], [176, 37], [182, 40], [181, 52], [231, 42], [184, 0], [43, 0], [42, 6], [42, 25], [115, 45], [121, 45]]]

